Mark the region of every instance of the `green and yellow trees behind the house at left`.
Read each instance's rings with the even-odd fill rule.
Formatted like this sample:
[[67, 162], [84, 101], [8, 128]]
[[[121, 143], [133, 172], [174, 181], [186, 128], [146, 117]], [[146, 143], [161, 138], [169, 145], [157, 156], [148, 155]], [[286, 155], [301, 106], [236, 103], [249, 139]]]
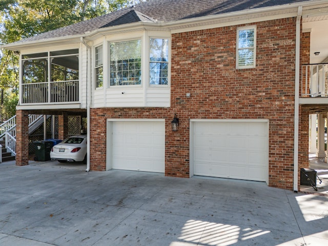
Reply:
[[[147, 0], [1, 0], [0, 45], [65, 27]], [[15, 114], [18, 57], [0, 50], [0, 120]]]

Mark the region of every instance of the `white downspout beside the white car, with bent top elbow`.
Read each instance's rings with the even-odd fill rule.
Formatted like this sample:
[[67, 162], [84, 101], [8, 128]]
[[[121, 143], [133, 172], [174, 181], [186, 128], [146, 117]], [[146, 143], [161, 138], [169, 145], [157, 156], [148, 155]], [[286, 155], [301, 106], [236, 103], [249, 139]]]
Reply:
[[90, 96], [90, 81], [89, 79], [89, 73], [88, 73], [88, 52], [91, 51], [91, 47], [87, 44], [87, 42], [84, 40], [83, 37], [80, 38], [81, 43], [84, 44], [87, 47], [87, 71], [86, 71], [86, 77], [87, 77], [87, 169], [86, 172], [90, 171], [90, 101], [91, 101], [91, 96]]

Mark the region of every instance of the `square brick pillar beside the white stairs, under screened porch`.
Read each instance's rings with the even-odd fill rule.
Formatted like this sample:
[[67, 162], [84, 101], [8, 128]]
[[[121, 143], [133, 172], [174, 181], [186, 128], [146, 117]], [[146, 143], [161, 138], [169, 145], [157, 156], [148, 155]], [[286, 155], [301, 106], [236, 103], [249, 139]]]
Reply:
[[29, 163], [29, 112], [16, 110], [16, 165]]

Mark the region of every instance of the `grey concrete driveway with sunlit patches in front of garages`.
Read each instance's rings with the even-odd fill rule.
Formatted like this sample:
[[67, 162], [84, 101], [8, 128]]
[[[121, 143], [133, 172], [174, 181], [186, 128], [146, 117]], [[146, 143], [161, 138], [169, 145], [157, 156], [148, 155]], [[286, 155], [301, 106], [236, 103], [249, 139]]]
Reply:
[[0, 245], [328, 245], [328, 196], [0, 163]]

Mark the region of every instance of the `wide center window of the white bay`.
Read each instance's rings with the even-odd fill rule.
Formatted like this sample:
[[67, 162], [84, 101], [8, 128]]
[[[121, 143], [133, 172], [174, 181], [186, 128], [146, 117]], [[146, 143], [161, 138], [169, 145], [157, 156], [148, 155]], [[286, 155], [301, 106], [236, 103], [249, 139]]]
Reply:
[[110, 43], [110, 86], [141, 85], [141, 39]]

